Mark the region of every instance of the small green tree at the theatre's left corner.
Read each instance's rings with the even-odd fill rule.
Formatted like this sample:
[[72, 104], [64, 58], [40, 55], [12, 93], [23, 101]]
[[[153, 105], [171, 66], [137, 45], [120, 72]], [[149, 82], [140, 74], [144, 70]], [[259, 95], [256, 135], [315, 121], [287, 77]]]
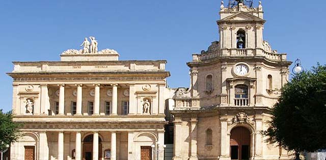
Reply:
[[20, 137], [20, 124], [13, 122], [12, 112], [3, 113], [0, 109], [0, 151], [6, 149], [6, 145], [17, 141]]

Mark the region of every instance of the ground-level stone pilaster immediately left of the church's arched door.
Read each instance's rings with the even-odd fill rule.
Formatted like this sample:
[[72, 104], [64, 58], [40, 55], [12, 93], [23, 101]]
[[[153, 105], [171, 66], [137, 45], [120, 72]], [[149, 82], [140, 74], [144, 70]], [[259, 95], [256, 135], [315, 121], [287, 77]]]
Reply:
[[230, 159], [230, 137], [228, 136], [227, 118], [220, 118], [221, 121], [221, 157], [220, 159]]

